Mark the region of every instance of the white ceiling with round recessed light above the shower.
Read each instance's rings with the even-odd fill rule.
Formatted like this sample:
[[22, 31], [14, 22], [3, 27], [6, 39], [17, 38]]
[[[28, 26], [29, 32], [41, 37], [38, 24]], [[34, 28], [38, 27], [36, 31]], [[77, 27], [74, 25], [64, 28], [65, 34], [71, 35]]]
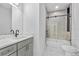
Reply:
[[48, 12], [67, 9], [69, 3], [46, 3]]

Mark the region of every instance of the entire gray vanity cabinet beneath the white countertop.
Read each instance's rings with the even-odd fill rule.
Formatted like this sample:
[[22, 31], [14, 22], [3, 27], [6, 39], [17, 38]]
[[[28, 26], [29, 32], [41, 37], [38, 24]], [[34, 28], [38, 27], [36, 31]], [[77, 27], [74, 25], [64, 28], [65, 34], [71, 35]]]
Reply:
[[33, 38], [0, 49], [0, 56], [33, 56]]

